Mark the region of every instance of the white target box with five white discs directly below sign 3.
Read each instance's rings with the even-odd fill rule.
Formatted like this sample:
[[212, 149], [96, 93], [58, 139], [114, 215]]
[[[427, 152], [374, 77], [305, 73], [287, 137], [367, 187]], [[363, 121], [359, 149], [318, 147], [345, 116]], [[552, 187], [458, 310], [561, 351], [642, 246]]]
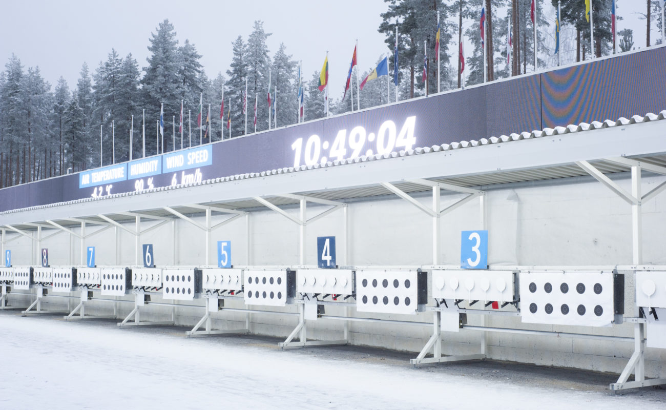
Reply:
[[513, 302], [514, 277], [512, 271], [432, 271], [432, 297]]

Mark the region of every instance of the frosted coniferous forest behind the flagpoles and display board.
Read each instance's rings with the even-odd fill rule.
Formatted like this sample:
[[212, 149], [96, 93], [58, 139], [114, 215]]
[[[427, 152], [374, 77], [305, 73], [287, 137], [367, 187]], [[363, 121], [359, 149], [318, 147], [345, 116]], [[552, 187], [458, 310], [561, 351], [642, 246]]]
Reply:
[[[385, 1], [386, 11], [382, 13], [378, 31], [384, 34], [386, 45], [393, 49], [396, 24], [399, 27], [397, 87], [400, 99], [437, 92], [436, 81], [432, 79], [437, 78], [438, 12], [442, 91], [460, 87], [458, 44], [462, 38], [473, 45], [464, 53], [466, 84], [484, 81], [484, 51], [478, 23], [482, 7], [486, 23], [485, 44], [489, 50], [485, 65], [488, 81], [530, 73], [535, 69], [530, 17], [532, 0]], [[557, 0], [536, 0], [536, 3], [541, 10], [545, 3], [557, 7]], [[647, 0], [648, 27], [652, 22], [661, 30], [661, 4], [657, 0]], [[597, 57], [612, 54], [611, 0], [593, 0], [593, 5], [595, 43], [592, 53]], [[561, 63], [590, 58], [589, 23], [585, 20], [583, 1], [563, 0], [561, 7]], [[510, 17], [496, 17], [500, 14]], [[464, 19], [476, 23], [463, 25]], [[509, 23], [513, 45], [509, 51], [510, 66], [507, 64]], [[537, 70], [543, 70], [557, 65], [553, 55], [554, 16], [540, 13], [536, 24], [540, 27], [536, 41]], [[649, 46], [649, 29], [647, 33], [646, 45]], [[118, 55], [115, 49], [111, 49], [106, 61], [101, 61], [97, 67], [83, 63], [76, 84], [68, 84], [61, 77], [52, 85], [43, 79], [39, 67], [24, 67], [20, 56], [13, 55], [0, 73], [0, 187], [127, 161], [130, 153], [133, 158], [139, 158], [144, 155], [141, 138], [144, 118], [145, 155], [157, 153], [158, 144], [159, 151], [166, 152], [180, 149], [181, 143], [188, 147], [244, 135], [242, 93], [246, 83], [248, 133], [254, 132], [255, 99], [258, 100], [256, 129], [264, 131], [268, 129], [269, 73], [271, 97], [276, 101], [273, 124], [282, 127], [296, 123], [300, 88], [298, 61], [290, 55], [284, 43], [277, 50], [269, 50], [266, 46], [269, 35], [264, 22], [255, 21], [247, 37], [239, 35], [232, 41], [230, 67], [214, 78], [206, 76], [196, 45], [186, 38], [176, 37], [176, 27], [168, 20], [159, 23], [148, 39], [150, 54], [147, 61], [137, 61], [131, 53]], [[623, 52], [629, 51], [639, 39], [633, 39], [631, 30], [624, 29], [618, 33], [617, 41], [617, 52]], [[661, 39], [656, 39], [653, 44], [659, 42]], [[424, 46], [428, 51], [428, 78], [431, 79], [428, 90], [422, 79]], [[382, 58], [384, 56], [376, 56], [376, 63]], [[391, 56], [390, 67], [394, 66], [393, 60]], [[358, 66], [354, 67], [356, 70]], [[369, 73], [359, 71], [358, 78], [364, 79]], [[324, 117], [324, 99], [318, 89], [319, 71], [302, 73], [301, 79], [304, 121]], [[224, 113], [220, 119], [222, 93]], [[368, 81], [360, 93], [361, 109], [385, 104], [386, 94], [386, 81]], [[394, 95], [393, 88], [390, 95]], [[209, 104], [210, 123], [207, 124]], [[200, 105], [203, 115], [199, 120]], [[330, 101], [329, 107], [328, 115], [351, 111], [350, 93], [346, 93], [344, 99]], [[354, 109], [357, 108], [354, 101]], [[158, 131], [161, 109], [164, 112], [164, 146]], [[227, 129], [228, 119], [230, 130]], [[130, 135], [133, 136], [131, 146]]]

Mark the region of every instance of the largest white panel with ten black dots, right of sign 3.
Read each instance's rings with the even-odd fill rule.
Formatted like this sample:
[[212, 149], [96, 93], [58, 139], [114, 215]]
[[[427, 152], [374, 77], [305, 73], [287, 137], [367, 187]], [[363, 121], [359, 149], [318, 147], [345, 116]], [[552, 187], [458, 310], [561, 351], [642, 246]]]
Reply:
[[[521, 272], [522, 321], [610, 326], [615, 315], [613, 279], [612, 272], [599, 271]], [[621, 285], [624, 288], [623, 281]]]

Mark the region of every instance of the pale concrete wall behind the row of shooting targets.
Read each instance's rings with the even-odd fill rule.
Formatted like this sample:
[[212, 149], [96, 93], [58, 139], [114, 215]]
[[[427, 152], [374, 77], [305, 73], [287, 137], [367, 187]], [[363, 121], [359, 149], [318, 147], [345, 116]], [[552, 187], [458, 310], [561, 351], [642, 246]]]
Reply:
[[[663, 177], [644, 177], [643, 193], [659, 185]], [[629, 179], [617, 183], [631, 191]], [[460, 194], [442, 195], [442, 207], [464, 197]], [[420, 195], [419, 201], [430, 206], [430, 195]], [[507, 185], [488, 191], [487, 229], [489, 230], [490, 265], [630, 265], [631, 207], [623, 199], [591, 179], [572, 179], [567, 183], [529, 183]], [[326, 207], [308, 203], [308, 217]], [[298, 217], [297, 208], [286, 209]], [[336, 211], [307, 227], [306, 265], [316, 265], [316, 237], [334, 235], [337, 238], [338, 265], [432, 265], [432, 219], [414, 205], [398, 197], [352, 202], [349, 205], [349, 259], [344, 240], [344, 213]], [[213, 217], [213, 224], [228, 216]], [[201, 217], [194, 218], [204, 223]], [[156, 221], [144, 222], [147, 227]], [[128, 225], [131, 229], [134, 225]], [[249, 217], [250, 255], [246, 251], [246, 219], [239, 218], [213, 231], [208, 264], [216, 260], [216, 241], [232, 241], [234, 265], [298, 265], [298, 225], [273, 211], [252, 212]], [[663, 231], [666, 227], [666, 194], [661, 193], [643, 205], [643, 263], [666, 264], [663, 252]], [[480, 228], [479, 201], [472, 201], [442, 217], [440, 263], [460, 263], [460, 231]], [[87, 232], [99, 229], [87, 227]], [[76, 229], [75, 229], [76, 231]], [[174, 247], [175, 231], [175, 247]], [[43, 236], [52, 231], [43, 231]], [[15, 234], [7, 233], [7, 239]], [[157, 265], [204, 265], [205, 237], [197, 227], [178, 220], [168, 222], [141, 235], [140, 243], [155, 245]], [[117, 245], [116, 245], [117, 244]], [[85, 245], [97, 247], [97, 265], [134, 265], [135, 238], [122, 229], [107, 229], [87, 239]], [[116, 251], [116, 246], [119, 251]], [[61, 233], [43, 241], [51, 265], [78, 264], [79, 239]], [[175, 253], [174, 253], [175, 248]], [[21, 238], [7, 245], [13, 253], [14, 265], [28, 265], [31, 243]], [[118, 253], [119, 259], [116, 260]], [[18, 301], [18, 296], [13, 296]], [[129, 299], [129, 297], [127, 297]], [[154, 298], [159, 299], [159, 298]], [[60, 302], [60, 299], [51, 299]], [[625, 312], [633, 314], [633, 277], [627, 275]], [[201, 304], [202, 300], [194, 301]], [[94, 303], [91, 309], [109, 313], [111, 306]], [[228, 302], [227, 307], [242, 307]], [[98, 307], [98, 308], [95, 308]], [[131, 303], [119, 305], [119, 315], [129, 313]], [[326, 313], [344, 315], [342, 307], [327, 307]], [[350, 309], [353, 311], [354, 309]], [[94, 311], [94, 310], [93, 310]], [[93, 313], [91, 311], [91, 313]], [[296, 313], [295, 307], [284, 311]], [[168, 307], [149, 307], [142, 319], [163, 320], [169, 317]], [[202, 309], [179, 307], [176, 321], [192, 325]], [[244, 313], [216, 313], [214, 327], [236, 329], [244, 327]], [[415, 317], [402, 315], [372, 315], [397, 320], [419, 320], [429, 323], [431, 313]], [[481, 324], [481, 317], [470, 316], [470, 324]], [[294, 316], [251, 315], [254, 333], [284, 337], [297, 323]], [[523, 325], [517, 317], [488, 317], [486, 325], [520, 327], [547, 331], [592, 333], [599, 335], [633, 336], [633, 325], [609, 328], [571, 327], [554, 325]], [[308, 336], [316, 339], [340, 339], [344, 325], [338, 321], [319, 320], [308, 327]], [[358, 345], [374, 345], [390, 349], [420, 351], [430, 336], [430, 327], [384, 325], [381, 323], [350, 323], [350, 341]], [[481, 333], [461, 331], [444, 334], [444, 353], [478, 353]], [[569, 339], [545, 336], [488, 333], [488, 355], [493, 359], [579, 367], [619, 373], [633, 351], [631, 343]], [[648, 377], [666, 377], [666, 350], [647, 349]]]

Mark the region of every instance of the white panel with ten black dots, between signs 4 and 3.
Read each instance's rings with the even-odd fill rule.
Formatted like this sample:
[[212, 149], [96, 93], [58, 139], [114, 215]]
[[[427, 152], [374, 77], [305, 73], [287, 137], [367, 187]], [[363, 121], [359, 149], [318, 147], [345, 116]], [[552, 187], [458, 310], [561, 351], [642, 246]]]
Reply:
[[428, 276], [418, 271], [356, 271], [356, 310], [414, 315], [426, 304]]

